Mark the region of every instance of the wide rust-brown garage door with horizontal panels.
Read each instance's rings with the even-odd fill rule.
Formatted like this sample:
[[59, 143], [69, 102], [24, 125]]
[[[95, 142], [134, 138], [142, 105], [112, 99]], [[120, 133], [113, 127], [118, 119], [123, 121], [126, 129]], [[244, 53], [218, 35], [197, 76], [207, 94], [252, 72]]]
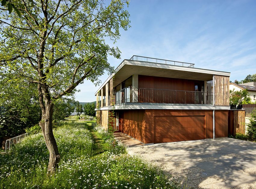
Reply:
[[155, 116], [154, 143], [204, 139], [204, 116]]

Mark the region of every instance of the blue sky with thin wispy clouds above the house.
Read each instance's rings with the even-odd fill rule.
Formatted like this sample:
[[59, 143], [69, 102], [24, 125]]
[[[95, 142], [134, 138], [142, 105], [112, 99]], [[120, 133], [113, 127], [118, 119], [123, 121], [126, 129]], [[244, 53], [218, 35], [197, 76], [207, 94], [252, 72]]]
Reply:
[[[115, 46], [121, 59], [132, 55], [194, 63], [195, 67], [231, 72], [230, 80], [256, 73], [256, 1], [131, 0], [131, 28]], [[105, 73], [100, 79], [107, 79]], [[77, 87], [76, 100], [92, 102], [99, 88], [90, 81]]]

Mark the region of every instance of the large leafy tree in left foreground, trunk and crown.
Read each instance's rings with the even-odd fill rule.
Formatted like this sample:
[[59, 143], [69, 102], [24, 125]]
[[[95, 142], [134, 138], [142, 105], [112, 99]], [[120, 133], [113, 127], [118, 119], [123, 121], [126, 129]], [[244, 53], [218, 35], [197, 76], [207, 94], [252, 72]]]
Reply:
[[[105, 5], [98, 0], [13, 0], [21, 17], [0, 9], [0, 78], [12, 87], [36, 84], [41, 109], [39, 125], [49, 151], [48, 172], [60, 161], [52, 132], [54, 105], [73, 95], [84, 79], [95, 84], [104, 71], [112, 72], [108, 55], [120, 58], [116, 42], [120, 28], [130, 27], [126, 0]], [[26, 88], [24, 88], [26, 90]], [[5, 91], [1, 91], [5, 93]]]

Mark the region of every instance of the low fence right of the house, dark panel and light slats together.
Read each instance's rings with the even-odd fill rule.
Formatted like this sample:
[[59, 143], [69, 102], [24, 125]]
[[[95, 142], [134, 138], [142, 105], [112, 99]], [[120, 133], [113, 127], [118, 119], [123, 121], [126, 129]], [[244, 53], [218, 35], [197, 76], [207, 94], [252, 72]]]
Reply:
[[245, 134], [245, 110], [229, 110], [228, 134], [235, 136], [236, 133]]

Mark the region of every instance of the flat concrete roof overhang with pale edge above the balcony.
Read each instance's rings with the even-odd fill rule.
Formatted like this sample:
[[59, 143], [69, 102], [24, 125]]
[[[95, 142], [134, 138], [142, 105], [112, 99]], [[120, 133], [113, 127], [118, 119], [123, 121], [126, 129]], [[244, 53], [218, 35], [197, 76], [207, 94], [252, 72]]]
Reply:
[[97, 92], [115, 75], [114, 87], [133, 74], [169, 77], [179, 79], [192, 79], [208, 81], [213, 79], [213, 75], [230, 76], [229, 72], [207, 70], [194, 67], [173, 66], [169, 64], [158, 64], [144, 61], [124, 60], [101, 85]]

